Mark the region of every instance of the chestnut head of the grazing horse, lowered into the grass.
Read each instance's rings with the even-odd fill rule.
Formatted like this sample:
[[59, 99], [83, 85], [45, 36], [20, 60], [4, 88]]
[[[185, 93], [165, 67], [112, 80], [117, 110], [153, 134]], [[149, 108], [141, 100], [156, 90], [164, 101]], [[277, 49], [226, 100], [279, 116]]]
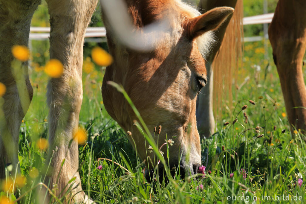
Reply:
[[[129, 139], [132, 144], [132, 138], [135, 141], [134, 148], [140, 157], [147, 160], [150, 156], [153, 160], [153, 153], [147, 151], [148, 143], [144, 146], [144, 135], [133, 126], [137, 117], [132, 108], [124, 96], [106, 82], [122, 84], [149, 130], [153, 133], [155, 126], [162, 126], [159, 147], [165, 143], [166, 135], [168, 138], [177, 136], [169, 148], [170, 168], [181, 166], [181, 172], [197, 173], [201, 154], [196, 98], [207, 83], [205, 56], [214, 40], [211, 30], [218, 28], [233, 9], [218, 7], [200, 15], [178, 0], [126, 2], [136, 28], [169, 17], [170, 31], [154, 50], [137, 51], [122, 45], [104, 20], [108, 46], [114, 57], [114, 63], [106, 67], [103, 78], [104, 106], [125, 131], [132, 132]], [[155, 140], [157, 142], [157, 137]]]

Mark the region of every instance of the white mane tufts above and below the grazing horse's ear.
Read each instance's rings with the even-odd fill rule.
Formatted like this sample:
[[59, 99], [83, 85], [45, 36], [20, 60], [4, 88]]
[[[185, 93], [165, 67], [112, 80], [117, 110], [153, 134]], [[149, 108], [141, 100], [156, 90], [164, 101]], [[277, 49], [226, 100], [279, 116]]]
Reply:
[[[176, 5], [181, 10], [187, 12], [190, 17], [194, 18], [201, 15], [200, 11], [197, 9], [196, 6], [182, 2], [181, 0], [174, 0], [174, 1]], [[207, 59], [216, 41], [217, 40], [215, 39], [215, 34], [213, 31], [207, 31], [196, 38], [199, 51], [203, 55], [204, 59]]]

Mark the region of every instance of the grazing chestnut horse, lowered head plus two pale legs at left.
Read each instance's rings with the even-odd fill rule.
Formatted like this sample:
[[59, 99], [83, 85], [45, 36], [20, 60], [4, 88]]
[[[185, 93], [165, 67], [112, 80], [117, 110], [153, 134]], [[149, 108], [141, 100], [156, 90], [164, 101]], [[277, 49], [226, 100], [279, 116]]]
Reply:
[[[62, 62], [64, 70], [62, 76], [50, 79], [47, 86], [49, 157], [53, 173], [45, 182], [51, 187], [56, 184], [55, 195], [61, 196], [69, 180], [76, 177], [71, 191], [73, 199], [87, 202], [77, 172], [78, 144], [72, 138], [78, 129], [82, 103], [84, 33], [97, 0], [46, 1], [51, 26], [50, 58]], [[18, 168], [19, 128], [33, 96], [28, 62], [22, 62], [16, 71], [11, 64], [11, 49], [14, 45], [28, 46], [31, 18], [39, 3], [40, 0], [0, 0], [0, 82], [6, 86], [0, 101], [0, 178], [5, 177], [6, 164]], [[105, 107], [121, 127], [132, 131], [134, 148], [145, 159], [148, 146], [144, 146], [143, 135], [133, 126], [136, 116], [123, 96], [106, 81], [122, 84], [147, 126], [153, 130], [154, 126], [162, 125], [159, 146], [166, 135], [177, 136], [170, 147], [171, 165], [180, 165], [182, 170], [194, 174], [201, 164], [195, 114], [197, 94], [207, 82], [205, 56], [214, 41], [211, 31], [233, 9], [219, 7], [201, 15], [179, 0], [126, 0], [126, 4], [139, 32], [162, 18], [169, 20], [169, 31], [151, 51], [137, 51], [121, 43], [116, 37], [120, 35], [112, 29], [115, 25], [110, 25], [108, 16], [104, 17], [108, 45], [114, 57], [103, 80]], [[149, 40], [150, 36], [147, 37]]]

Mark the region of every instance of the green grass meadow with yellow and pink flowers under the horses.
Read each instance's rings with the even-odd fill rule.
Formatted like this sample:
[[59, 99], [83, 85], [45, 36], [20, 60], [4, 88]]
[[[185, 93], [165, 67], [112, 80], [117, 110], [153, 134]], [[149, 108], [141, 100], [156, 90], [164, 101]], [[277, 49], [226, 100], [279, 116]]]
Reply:
[[[263, 44], [244, 43], [241, 67], [233, 73], [233, 101], [224, 97], [215, 114], [216, 132], [201, 140], [202, 173], [169, 177], [169, 183], [149, 183], [144, 178], [144, 162], [103, 106], [105, 67], [92, 60], [91, 50], [96, 46], [107, 49], [106, 44], [85, 43], [79, 122], [87, 136], [79, 145], [85, 193], [96, 203], [305, 203], [305, 135], [301, 130], [290, 131], [272, 49], [268, 41], [267, 50]], [[0, 181], [0, 204], [13, 203], [16, 197], [18, 202], [29, 204], [47, 199], [40, 191], [47, 186], [40, 183], [48, 174], [49, 76], [44, 71], [48, 46], [48, 41], [32, 41], [29, 72], [34, 96], [20, 129], [21, 175], [11, 178], [8, 174]], [[226, 87], [224, 92], [228, 92]], [[164, 161], [167, 157], [164, 153]], [[51, 196], [50, 202], [63, 200]]]

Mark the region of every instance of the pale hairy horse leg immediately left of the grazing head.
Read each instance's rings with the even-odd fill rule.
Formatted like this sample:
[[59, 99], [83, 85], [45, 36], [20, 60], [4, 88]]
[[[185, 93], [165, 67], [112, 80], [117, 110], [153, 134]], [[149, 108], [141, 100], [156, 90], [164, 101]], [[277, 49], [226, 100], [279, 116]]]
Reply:
[[85, 202], [89, 202], [84, 197], [78, 173], [78, 143], [70, 141], [78, 129], [83, 98], [84, 35], [97, 0], [47, 0], [47, 4], [51, 26], [50, 59], [58, 59], [64, 66], [62, 76], [52, 78], [47, 86], [50, 155], [52, 150], [57, 149], [51, 160], [53, 174], [50, 185], [56, 184], [56, 195], [62, 196], [71, 185], [68, 181], [76, 177], [69, 199], [73, 198], [75, 202], [85, 199]]

